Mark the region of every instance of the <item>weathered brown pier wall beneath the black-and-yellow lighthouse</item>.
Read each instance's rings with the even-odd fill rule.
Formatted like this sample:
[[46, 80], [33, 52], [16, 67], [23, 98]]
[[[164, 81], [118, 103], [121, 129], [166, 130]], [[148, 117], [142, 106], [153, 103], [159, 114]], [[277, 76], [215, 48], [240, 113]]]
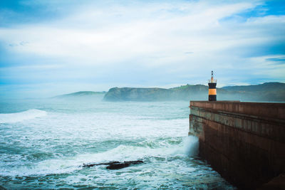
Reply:
[[225, 179], [256, 189], [285, 171], [284, 117], [283, 103], [192, 101], [189, 134]]

